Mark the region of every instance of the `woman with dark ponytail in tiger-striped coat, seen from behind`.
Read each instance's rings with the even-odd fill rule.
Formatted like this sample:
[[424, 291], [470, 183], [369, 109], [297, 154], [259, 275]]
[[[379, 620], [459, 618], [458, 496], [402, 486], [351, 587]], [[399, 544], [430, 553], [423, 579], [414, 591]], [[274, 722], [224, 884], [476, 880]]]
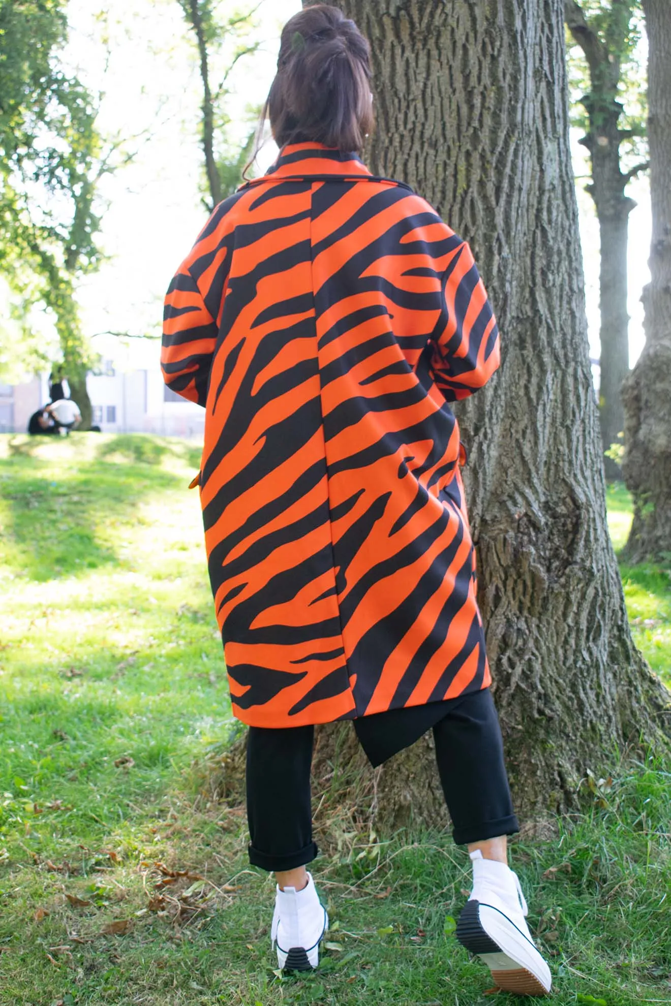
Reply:
[[206, 409], [198, 482], [249, 726], [249, 859], [277, 876], [280, 967], [316, 967], [314, 724], [353, 719], [373, 765], [433, 728], [473, 860], [458, 938], [500, 988], [542, 995], [448, 404], [497, 368], [496, 322], [468, 245], [359, 160], [371, 102], [356, 25], [323, 4], [293, 17], [267, 107], [279, 160], [216, 207], [166, 298], [165, 380]]

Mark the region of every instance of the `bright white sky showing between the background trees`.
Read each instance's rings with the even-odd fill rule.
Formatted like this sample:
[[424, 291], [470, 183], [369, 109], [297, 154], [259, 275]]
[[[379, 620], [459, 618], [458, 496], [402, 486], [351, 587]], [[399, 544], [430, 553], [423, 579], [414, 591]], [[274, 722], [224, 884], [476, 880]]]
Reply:
[[[225, 8], [225, 4], [223, 4]], [[259, 52], [236, 65], [227, 110], [248, 133], [245, 110], [263, 104], [273, 79], [281, 26], [300, 0], [263, 0], [258, 11]], [[231, 10], [240, 4], [231, 3]], [[107, 13], [106, 13], [107, 12]], [[134, 161], [104, 179], [107, 203], [101, 243], [109, 261], [88, 277], [79, 300], [86, 332], [158, 335], [162, 300], [207, 211], [201, 202], [200, 79], [197, 54], [177, 0], [70, 0], [67, 61], [95, 92], [104, 93], [99, 125], [105, 136], [136, 137]], [[217, 65], [211, 67], [217, 77]], [[585, 152], [573, 137], [575, 171], [588, 171]], [[235, 137], [233, 136], [233, 139]], [[263, 170], [272, 144], [260, 157]], [[599, 355], [599, 227], [591, 197], [578, 182], [592, 355]], [[643, 347], [641, 290], [649, 280], [650, 200], [647, 178], [628, 194], [638, 202], [630, 216], [630, 362]], [[448, 222], [450, 222], [448, 214]], [[504, 337], [505, 337], [505, 333]], [[108, 340], [103, 340], [107, 342]], [[155, 350], [145, 344], [147, 352]], [[130, 362], [130, 361], [129, 361]], [[139, 365], [139, 364], [136, 364]], [[142, 365], [147, 365], [143, 363]]]

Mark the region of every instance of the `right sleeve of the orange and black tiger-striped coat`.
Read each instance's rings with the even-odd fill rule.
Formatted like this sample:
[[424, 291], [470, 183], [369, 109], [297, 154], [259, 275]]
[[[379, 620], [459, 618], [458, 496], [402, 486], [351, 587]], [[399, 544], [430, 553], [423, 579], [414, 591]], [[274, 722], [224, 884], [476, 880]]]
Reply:
[[466, 241], [442, 277], [442, 306], [432, 335], [432, 372], [448, 401], [482, 387], [500, 363], [499, 330]]

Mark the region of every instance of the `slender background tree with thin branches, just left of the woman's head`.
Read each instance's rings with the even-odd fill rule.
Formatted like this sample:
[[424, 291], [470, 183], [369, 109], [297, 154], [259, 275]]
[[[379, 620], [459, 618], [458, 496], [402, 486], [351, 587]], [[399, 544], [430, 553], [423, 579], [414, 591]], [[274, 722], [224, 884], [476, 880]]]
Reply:
[[[250, 32], [256, 27], [255, 14], [260, 5], [227, 15], [222, 13], [224, 5], [220, 0], [179, 0], [179, 5], [198, 49], [202, 88], [200, 132], [206, 178], [203, 201], [212, 210], [239, 185], [251, 153], [255, 130], [249, 128], [241, 144], [231, 139], [226, 99], [231, 94], [230, 77], [238, 61], [259, 48]], [[214, 82], [213, 63], [224, 66]], [[258, 115], [258, 109], [249, 110], [248, 122]]]

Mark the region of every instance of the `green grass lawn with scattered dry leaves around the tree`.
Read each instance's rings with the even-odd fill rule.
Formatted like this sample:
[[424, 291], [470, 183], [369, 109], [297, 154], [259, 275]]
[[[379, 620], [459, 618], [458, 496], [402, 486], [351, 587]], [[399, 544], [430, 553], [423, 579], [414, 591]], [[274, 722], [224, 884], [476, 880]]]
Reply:
[[[453, 935], [470, 871], [445, 832], [344, 836], [315, 864], [320, 971], [274, 970], [273, 881], [199, 768], [234, 721], [197, 467], [157, 438], [0, 438], [0, 1004], [490, 1003]], [[609, 510], [618, 547], [621, 487]], [[622, 571], [671, 682], [669, 571]], [[612, 776], [557, 838], [513, 847], [558, 1006], [671, 1003], [671, 766]]]

